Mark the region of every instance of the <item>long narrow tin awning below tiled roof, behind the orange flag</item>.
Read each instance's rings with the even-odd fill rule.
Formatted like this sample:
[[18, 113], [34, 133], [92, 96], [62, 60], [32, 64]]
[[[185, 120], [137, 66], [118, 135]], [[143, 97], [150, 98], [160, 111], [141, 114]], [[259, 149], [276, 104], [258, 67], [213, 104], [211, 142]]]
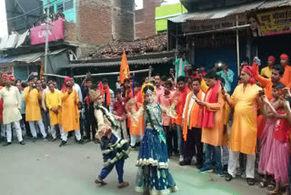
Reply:
[[[129, 66], [131, 65], [153, 65], [153, 64], [166, 64], [173, 60], [174, 57], [163, 57], [163, 58], [147, 58], [147, 59], [136, 59], [127, 60]], [[80, 63], [80, 64], [70, 64], [62, 68], [67, 67], [118, 67], [120, 66], [120, 61], [115, 62], [98, 62], [98, 63]]]

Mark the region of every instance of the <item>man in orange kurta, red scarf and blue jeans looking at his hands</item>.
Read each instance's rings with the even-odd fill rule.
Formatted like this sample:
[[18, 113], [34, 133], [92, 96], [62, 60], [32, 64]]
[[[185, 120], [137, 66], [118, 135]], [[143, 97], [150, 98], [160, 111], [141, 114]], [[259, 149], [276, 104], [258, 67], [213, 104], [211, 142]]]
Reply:
[[199, 127], [202, 128], [201, 141], [205, 145], [206, 159], [201, 173], [212, 172], [212, 161], [216, 161], [216, 171], [223, 176], [221, 166], [221, 149], [224, 145], [224, 111], [225, 97], [222, 94], [222, 87], [215, 72], [206, 74], [206, 91], [204, 100], [196, 99], [196, 103], [202, 108]]

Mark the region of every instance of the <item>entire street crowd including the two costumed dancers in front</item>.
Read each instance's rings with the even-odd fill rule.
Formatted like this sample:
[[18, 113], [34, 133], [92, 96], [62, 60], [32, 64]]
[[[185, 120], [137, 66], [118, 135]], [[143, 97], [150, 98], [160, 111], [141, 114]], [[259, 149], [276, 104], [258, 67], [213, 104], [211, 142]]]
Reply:
[[[115, 92], [104, 78], [97, 85], [87, 74], [81, 87], [66, 77], [61, 90], [53, 80], [29, 77], [28, 82], [4, 77], [0, 90], [1, 137], [12, 143], [12, 129], [21, 145], [25, 135], [66, 145], [100, 143], [105, 167], [95, 183], [117, 170], [118, 188], [130, 149], [139, 148], [135, 189], [167, 194], [176, 191], [168, 159], [181, 166], [196, 164], [200, 173], [215, 171], [226, 181], [241, 176], [269, 194], [290, 194], [291, 67], [285, 54], [269, 56], [250, 65], [242, 60], [238, 84], [225, 63], [206, 71], [189, 66], [186, 55], [178, 58], [170, 76], [146, 77], [142, 85], [134, 77], [119, 80]], [[122, 84], [120, 84], [122, 83]], [[232, 94], [230, 94], [234, 91]], [[21, 123], [23, 121], [23, 123]], [[128, 143], [128, 144], [127, 144]], [[289, 175], [288, 175], [289, 173]]]

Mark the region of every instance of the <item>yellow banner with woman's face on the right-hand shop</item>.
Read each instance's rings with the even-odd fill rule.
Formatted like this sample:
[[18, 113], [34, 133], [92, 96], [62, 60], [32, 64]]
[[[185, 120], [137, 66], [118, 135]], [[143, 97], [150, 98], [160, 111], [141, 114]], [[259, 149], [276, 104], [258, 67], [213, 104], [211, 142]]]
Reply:
[[291, 33], [291, 8], [248, 15], [253, 36], [273, 36]]

